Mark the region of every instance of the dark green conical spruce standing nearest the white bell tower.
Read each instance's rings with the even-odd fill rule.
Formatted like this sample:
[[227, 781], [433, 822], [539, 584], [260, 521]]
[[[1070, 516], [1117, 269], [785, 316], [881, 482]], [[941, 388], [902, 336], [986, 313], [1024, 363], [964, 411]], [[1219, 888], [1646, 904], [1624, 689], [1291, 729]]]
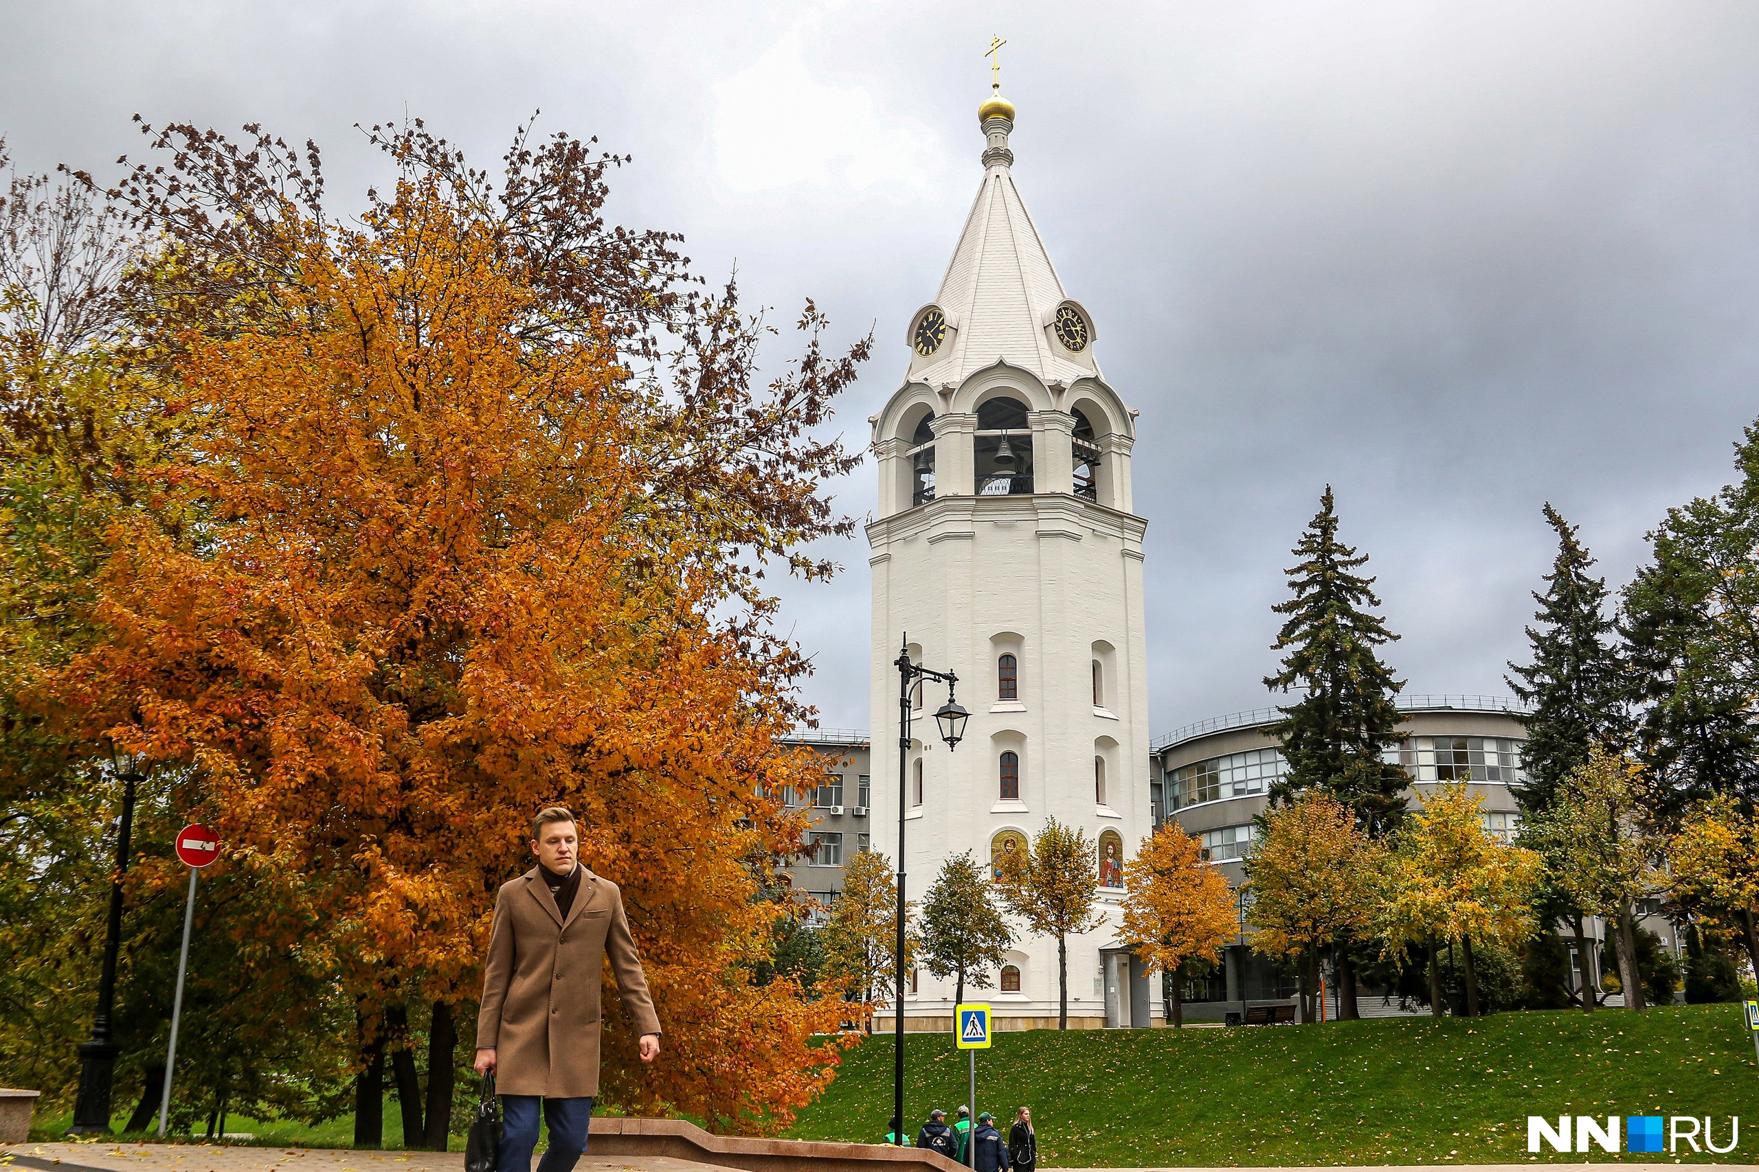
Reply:
[[1409, 775], [1381, 759], [1400, 740], [1393, 696], [1404, 687], [1379, 661], [1376, 647], [1397, 640], [1381, 617], [1374, 578], [1354, 571], [1367, 564], [1337, 539], [1332, 485], [1307, 525], [1288, 569], [1295, 597], [1272, 610], [1288, 615], [1274, 648], [1288, 652], [1282, 671], [1265, 676], [1277, 691], [1302, 699], [1279, 708], [1270, 734], [1282, 742], [1286, 777], [1270, 789], [1272, 805], [1288, 805], [1303, 789], [1323, 789], [1349, 807], [1370, 836], [1388, 833], [1404, 815]]

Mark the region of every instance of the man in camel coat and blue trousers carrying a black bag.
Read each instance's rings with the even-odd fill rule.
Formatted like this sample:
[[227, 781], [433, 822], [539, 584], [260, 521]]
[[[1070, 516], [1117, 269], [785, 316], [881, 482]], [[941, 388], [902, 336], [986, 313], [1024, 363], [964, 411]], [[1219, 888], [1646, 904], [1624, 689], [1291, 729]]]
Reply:
[[642, 1038], [642, 1061], [660, 1054], [660, 1017], [623, 915], [623, 894], [580, 866], [579, 845], [568, 810], [540, 810], [531, 821], [538, 865], [503, 884], [494, 900], [477, 1012], [477, 1074], [494, 1072], [501, 1096], [496, 1172], [531, 1172], [540, 1102], [551, 1144], [538, 1172], [570, 1172], [586, 1151], [598, 1095], [598, 993], [607, 954], [623, 1010]]

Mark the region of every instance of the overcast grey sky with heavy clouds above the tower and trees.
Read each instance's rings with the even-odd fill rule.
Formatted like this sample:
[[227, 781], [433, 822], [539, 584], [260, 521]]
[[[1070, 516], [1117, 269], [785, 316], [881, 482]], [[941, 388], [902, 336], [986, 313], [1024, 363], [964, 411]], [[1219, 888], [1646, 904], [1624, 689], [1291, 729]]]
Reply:
[[[635, 155], [616, 214], [904, 369], [976, 190], [1008, 39], [1015, 176], [1142, 409], [1156, 733], [1265, 703], [1282, 568], [1326, 481], [1418, 692], [1502, 694], [1553, 501], [1622, 583], [1759, 415], [1759, 5], [0, 4], [18, 165], [106, 174], [128, 125], [262, 121], [380, 177], [354, 123], [478, 162], [540, 130]], [[872, 508], [871, 466], [837, 485]], [[865, 541], [788, 585], [807, 694], [867, 724]]]

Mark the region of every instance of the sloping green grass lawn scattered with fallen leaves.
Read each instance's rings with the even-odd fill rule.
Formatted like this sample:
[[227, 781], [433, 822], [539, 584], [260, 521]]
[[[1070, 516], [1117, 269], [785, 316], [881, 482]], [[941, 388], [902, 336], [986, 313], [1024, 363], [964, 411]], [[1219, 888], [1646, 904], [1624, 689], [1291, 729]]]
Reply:
[[[911, 1035], [911, 1133], [931, 1107], [966, 1102], [950, 1035]], [[1029, 1105], [1050, 1167], [1516, 1163], [1527, 1116], [1759, 1116], [1759, 1067], [1740, 1005], [1395, 1017], [1235, 1030], [1001, 1033], [978, 1051], [978, 1109]], [[848, 1053], [790, 1135], [878, 1142], [892, 1114], [892, 1038]], [[1624, 1128], [1624, 1121], [1620, 1121]], [[1629, 1160], [1754, 1163], [1727, 1156]]]

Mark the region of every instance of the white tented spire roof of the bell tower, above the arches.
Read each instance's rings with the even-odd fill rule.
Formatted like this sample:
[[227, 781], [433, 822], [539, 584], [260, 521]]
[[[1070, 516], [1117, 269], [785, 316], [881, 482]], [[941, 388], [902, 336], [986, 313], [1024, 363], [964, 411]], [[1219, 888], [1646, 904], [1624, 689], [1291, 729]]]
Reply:
[[[990, 46], [992, 51], [1001, 44]], [[992, 83], [990, 97], [978, 107], [983, 183], [934, 299], [953, 336], [941, 353], [913, 371], [913, 380], [960, 383], [997, 360], [1031, 371], [1047, 385], [1099, 376], [1091, 346], [1069, 353], [1052, 337], [1050, 323], [1068, 295], [1013, 181], [1008, 148], [1013, 118], [1001, 83]]]

